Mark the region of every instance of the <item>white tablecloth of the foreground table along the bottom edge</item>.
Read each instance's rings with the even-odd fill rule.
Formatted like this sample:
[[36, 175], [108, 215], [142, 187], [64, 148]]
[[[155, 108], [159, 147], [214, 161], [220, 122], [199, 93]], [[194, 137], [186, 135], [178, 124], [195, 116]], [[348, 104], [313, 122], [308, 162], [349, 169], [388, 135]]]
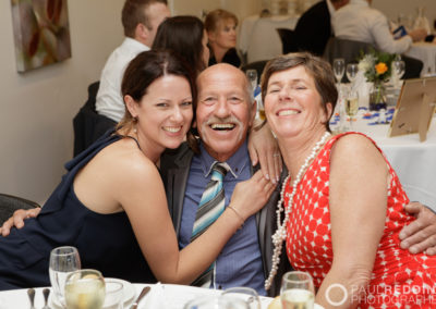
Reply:
[[[121, 281], [121, 280], [120, 280]], [[124, 309], [129, 309], [145, 286], [150, 286], [150, 292], [140, 301], [137, 309], [183, 309], [184, 305], [193, 298], [215, 296], [222, 293], [220, 289], [194, 287], [177, 284], [143, 284], [124, 282]], [[43, 287], [35, 288], [35, 309], [44, 307]], [[261, 309], [267, 309], [270, 297], [261, 296]], [[62, 309], [49, 296], [50, 309]], [[27, 289], [11, 289], [0, 292], [0, 309], [31, 309]], [[105, 307], [104, 307], [105, 309]]]

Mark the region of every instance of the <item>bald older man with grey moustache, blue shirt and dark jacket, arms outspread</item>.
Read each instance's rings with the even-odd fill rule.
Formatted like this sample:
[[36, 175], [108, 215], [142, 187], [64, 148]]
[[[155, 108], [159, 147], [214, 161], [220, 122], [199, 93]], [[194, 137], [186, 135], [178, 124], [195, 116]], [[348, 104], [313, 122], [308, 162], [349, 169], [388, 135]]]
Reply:
[[[216, 64], [201, 73], [197, 79], [198, 100], [194, 126], [198, 131], [198, 143], [183, 144], [175, 151], [161, 158], [160, 169], [167, 189], [168, 207], [180, 247], [191, 242], [194, 221], [206, 184], [211, 178], [215, 162], [227, 163], [229, 171], [223, 177], [225, 205], [229, 203], [238, 182], [247, 180], [253, 168], [247, 151], [246, 137], [253, 124], [256, 106], [251, 97], [250, 83], [239, 69], [230, 64]], [[193, 150], [194, 149], [194, 150]], [[276, 207], [279, 186], [267, 205], [249, 218], [225, 246], [213, 267], [209, 286], [228, 288], [250, 286], [265, 295], [264, 281], [271, 268], [271, 235], [276, 230]], [[427, 248], [435, 255], [433, 235], [436, 234], [434, 214], [419, 203], [407, 206], [419, 220], [405, 227], [402, 246], [413, 252]], [[23, 219], [36, 215], [38, 210], [19, 211], [0, 228], [7, 235], [14, 224], [23, 226]], [[268, 295], [279, 293], [280, 279], [290, 269], [281, 259], [278, 274]]]

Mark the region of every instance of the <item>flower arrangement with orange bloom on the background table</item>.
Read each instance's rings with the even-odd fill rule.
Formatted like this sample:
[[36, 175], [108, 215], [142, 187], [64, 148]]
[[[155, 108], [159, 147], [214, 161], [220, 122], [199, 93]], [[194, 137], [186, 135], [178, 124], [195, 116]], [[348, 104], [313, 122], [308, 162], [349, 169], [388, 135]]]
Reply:
[[364, 72], [367, 82], [387, 82], [391, 74], [391, 64], [396, 54], [370, 50], [368, 53], [361, 51], [359, 71]]

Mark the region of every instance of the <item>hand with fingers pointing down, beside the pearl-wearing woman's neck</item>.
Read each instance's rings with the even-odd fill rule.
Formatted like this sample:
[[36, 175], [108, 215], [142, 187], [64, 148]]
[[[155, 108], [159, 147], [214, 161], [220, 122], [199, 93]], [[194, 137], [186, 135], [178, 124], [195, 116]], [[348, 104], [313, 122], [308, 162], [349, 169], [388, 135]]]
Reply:
[[279, 146], [268, 123], [259, 131], [252, 129], [249, 137], [249, 152], [253, 165], [261, 163], [264, 176], [277, 184], [280, 180], [282, 161]]

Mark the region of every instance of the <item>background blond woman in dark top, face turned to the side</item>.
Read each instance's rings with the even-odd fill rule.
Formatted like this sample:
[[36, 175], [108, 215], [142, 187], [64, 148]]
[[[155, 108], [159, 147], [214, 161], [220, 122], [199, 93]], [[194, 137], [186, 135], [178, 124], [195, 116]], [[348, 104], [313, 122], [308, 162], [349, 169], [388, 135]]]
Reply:
[[230, 63], [241, 66], [237, 47], [238, 17], [226, 10], [215, 10], [206, 15], [205, 28], [209, 38], [209, 65]]

